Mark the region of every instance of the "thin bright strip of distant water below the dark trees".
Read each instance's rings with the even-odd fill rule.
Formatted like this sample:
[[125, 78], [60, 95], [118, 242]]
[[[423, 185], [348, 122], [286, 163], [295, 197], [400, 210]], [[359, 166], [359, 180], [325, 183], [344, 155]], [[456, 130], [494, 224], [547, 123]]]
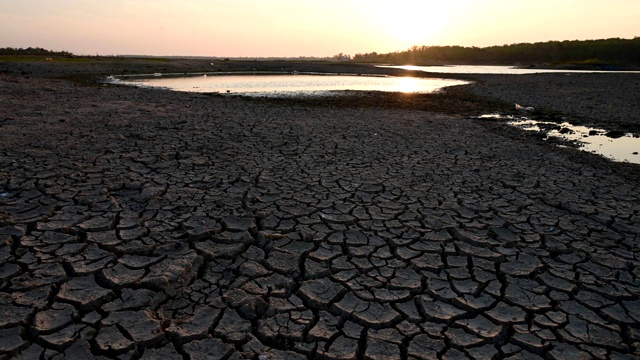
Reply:
[[500, 65], [446, 65], [446, 66], [415, 66], [415, 65], [380, 65], [380, 67], [426, 71], [440, 74], [540, 74], [540, 73], [640, 73], [640, 71], [609, 71], [609, 70], [554, 70], [554, 69], [521, 69], [513, 66]]

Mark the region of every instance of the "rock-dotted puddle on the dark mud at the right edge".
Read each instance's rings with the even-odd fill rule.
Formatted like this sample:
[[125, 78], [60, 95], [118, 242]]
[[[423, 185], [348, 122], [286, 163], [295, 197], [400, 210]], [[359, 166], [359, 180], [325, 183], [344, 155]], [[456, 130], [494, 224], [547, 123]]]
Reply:
[[640, 134], [498, 114], [482, 115], [479, 118], [507, 120], [507, 124], [525, 131], [544, 132], [547, 135], [546, 139], [555, 138], [572, 142], [582, 151], [618, 162], [640, 164]]

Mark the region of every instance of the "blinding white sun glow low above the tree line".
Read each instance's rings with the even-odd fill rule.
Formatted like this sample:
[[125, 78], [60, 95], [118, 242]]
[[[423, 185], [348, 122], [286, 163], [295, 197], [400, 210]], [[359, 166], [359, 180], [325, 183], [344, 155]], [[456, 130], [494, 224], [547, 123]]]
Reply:
[[447, 11], [435, 2], [404, 1], [380, 9], [381, 28], [397, 43], [399, 50], [413, 45], [428, 45], [447, 24]]

